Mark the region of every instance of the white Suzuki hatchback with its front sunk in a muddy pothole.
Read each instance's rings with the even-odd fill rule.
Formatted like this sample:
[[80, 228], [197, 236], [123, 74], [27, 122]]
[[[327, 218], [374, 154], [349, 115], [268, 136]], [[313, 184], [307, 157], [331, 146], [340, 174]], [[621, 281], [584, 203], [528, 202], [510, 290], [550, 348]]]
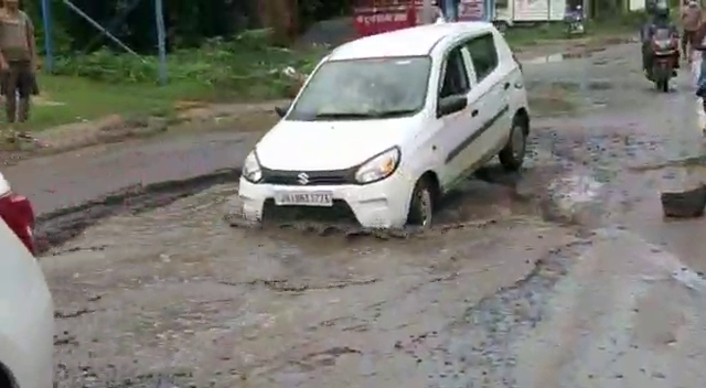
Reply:
[[247, 157], [244, 216], [350, 208], [365, 227], [427, 226], [438, 200], [494, 155], [522, 166], [530, 110], [520, 64], [490, 23], [359, 39], [323, 58]]

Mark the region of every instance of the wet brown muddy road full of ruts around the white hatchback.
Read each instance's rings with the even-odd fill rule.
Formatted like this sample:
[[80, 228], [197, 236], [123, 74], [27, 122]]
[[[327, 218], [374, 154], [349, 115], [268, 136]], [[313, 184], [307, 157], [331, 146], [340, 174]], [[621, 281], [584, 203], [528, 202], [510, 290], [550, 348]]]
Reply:
[[705, 229], [659, 207], [699, 176], [697, 101], [638, 54], [526, 64], [526, 170], [484, 169], [424, 233], [229, 225], [256, 134], [12, 168], [44, 213], [58, 387], [703, 387]]

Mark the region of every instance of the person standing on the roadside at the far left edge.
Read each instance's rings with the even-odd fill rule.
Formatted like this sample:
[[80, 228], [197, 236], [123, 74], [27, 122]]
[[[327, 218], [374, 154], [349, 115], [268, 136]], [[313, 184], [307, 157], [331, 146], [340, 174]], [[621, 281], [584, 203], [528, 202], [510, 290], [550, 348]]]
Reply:
[[19, 0], [3, 0], [3, 6], [0, 13], [0, 71], [6, 114], [10, 123], [24, 122], [30, 116], [30, 96], [39, 91], [34, 24], [20, 10]]

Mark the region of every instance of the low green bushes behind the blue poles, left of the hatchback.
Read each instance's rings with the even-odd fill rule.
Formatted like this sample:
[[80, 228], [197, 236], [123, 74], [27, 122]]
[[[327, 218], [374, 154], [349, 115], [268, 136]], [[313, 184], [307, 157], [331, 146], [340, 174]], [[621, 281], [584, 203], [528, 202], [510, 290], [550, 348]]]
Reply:
[[[261, 97], [287, 94], [297, 80], [282, 71], [291, 66], [308, 74], [323, 53], [275, 47], [269, 36], [268, 31], [247, 31], [233, 39], [208, 40], [199, 48], [176, 50], [168, 55], [169, 80], [199, 83], [239, 95], [248, 95], [248, 90], [265, 94]], [[113, 84], [157, 83], [159, 61], [99, 50], [57, 57], [54, 73]]]

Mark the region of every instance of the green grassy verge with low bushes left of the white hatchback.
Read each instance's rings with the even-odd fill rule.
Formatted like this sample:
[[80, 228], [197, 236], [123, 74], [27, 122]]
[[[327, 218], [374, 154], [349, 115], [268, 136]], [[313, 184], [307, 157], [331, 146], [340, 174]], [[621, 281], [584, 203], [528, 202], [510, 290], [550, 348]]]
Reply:
[[168, 56], [169, 84], [157, 83], [154, 57], [98, 51], [56, 60], [55, 75], [41, 75], [24, 130], [90, 120], [113, 114], [167, 116], [178, 101], [248, 101], [290, 96], [297, 77], [308, 73], [323, 50], [295, 52], [269, 44], [268, 33], [248, 32], [233, 40], [213, 40], [202, 47]]

